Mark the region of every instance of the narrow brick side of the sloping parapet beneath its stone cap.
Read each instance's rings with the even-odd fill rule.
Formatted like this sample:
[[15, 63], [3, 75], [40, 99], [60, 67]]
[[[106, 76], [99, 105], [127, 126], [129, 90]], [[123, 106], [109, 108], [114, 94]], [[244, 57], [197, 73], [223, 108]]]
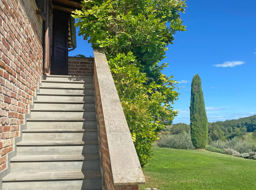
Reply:
[[101, 151], [101, 161], [102, 167], [104, 169], [104, 183], [107, 190], [138, 190], [138, 185], [124, 185], [124, 186], [115, 186], [113, 182], [113, 176], [111, 171], [111, 164], [109, 158], [109, 151], [108, 151], [108, 142], [107, 142], [107, 135], [104, 123], [104, 116], [102, 111], [102, 104], [101, 104], [101, 97], [100, 97], [100, 89], [98, 83], [98, 76], [96, 72], [96, 66], [94, 65], [94, 87], [95, 87], [95, 94], [96, 94], [96, 105], [97, 105], [97, 115], [98, 115], [98, 122], [99, 122], [99, 131], [100, 131], [100, 151]]

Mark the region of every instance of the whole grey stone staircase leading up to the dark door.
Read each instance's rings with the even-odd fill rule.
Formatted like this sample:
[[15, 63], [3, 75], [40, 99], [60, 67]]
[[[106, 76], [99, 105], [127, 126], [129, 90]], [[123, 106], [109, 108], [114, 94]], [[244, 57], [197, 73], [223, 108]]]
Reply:
[[45, 76], [3, 190], [99, 190], [93, 77]]

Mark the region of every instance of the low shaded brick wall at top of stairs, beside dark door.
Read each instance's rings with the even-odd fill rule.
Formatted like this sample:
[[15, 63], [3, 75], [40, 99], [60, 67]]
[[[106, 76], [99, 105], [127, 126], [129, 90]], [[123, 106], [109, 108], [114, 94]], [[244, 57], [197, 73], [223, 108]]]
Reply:
[[93, 76], [94, 58], [69, 57], [69, 75]]

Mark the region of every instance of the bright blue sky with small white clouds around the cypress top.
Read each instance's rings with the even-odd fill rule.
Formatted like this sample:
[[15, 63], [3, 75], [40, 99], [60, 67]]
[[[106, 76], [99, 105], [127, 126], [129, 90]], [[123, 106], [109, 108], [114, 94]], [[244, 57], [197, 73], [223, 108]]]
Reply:
[[[181, 83], [179, 110], [173, 123], [189, 124], [190, 85], [195, 74], [202, 89], [209, 122], [256, 114], [256, 1], [188, 0], [181, 14], [187, 31], [175, 35], [169, 46], [164, 74]], [[93, 56], [81, 37], [70, 56]]]

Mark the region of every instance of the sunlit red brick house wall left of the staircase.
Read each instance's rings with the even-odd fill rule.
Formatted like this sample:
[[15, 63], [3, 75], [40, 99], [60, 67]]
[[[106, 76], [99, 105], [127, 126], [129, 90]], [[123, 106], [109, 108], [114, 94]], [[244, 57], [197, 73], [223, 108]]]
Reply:
[[34, 0], [0, 0], [0, 171], [42, 76], [42, 19]]

